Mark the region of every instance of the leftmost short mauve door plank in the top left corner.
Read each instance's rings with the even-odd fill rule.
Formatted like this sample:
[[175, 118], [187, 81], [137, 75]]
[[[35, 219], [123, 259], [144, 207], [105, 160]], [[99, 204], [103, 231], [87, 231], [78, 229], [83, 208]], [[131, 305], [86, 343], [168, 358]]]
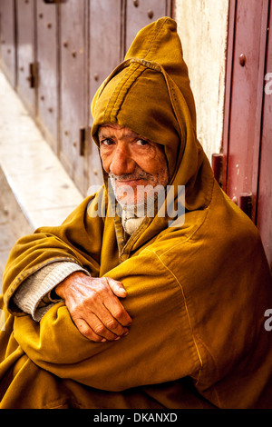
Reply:
[[0, 55], [6, 77], [16, 85], [15, 0], [0, 1]]

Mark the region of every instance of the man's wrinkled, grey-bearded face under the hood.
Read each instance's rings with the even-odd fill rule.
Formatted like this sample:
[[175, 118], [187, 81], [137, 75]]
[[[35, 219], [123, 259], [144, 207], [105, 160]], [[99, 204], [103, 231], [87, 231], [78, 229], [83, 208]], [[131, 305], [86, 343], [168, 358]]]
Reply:
[[[120, 204], [146, 203], [154, 187], [168, 184], [168, 166], [162, 145], [142, 139], [120, 124], [103, 124], [98, 137], [102, 166], [111, 178]], [[145, 192], [139, 191], [144, 187]]]

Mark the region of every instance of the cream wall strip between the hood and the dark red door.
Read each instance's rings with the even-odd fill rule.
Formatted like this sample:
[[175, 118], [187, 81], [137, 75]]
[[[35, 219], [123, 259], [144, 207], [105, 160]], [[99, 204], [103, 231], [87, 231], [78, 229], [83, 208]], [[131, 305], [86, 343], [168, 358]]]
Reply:
[[176, 21], [195, 97], [199, 142], [219, 153], [228, 35], [228, 0], [176, 0]]

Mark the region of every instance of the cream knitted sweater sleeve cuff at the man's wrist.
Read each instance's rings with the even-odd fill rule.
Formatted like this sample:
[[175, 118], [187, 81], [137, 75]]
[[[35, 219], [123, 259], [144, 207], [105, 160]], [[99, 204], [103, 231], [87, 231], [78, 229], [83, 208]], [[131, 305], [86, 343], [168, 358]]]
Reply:
[[13, 297], [15, 305], [24, 313], [31, 314], [35, 322], [40, 322], [44, 314], [61, 300], [54, 287], [74, 272], [90, 275], [79, 264], [72, 262], [50, 263], [33, 273], [18, 288]]

